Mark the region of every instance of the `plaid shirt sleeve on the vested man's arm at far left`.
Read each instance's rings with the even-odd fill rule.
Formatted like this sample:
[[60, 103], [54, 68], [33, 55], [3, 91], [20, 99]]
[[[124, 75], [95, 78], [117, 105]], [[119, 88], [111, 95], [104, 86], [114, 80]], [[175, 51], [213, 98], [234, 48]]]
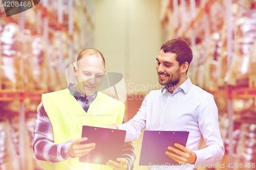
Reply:
[[71, 159], [73, 157], [69, 155], [69, 145], [72, 141], [54, 143], [52, 124], [41, 103], [34, 128], [33, 151], [36, 159], [50, 162]]

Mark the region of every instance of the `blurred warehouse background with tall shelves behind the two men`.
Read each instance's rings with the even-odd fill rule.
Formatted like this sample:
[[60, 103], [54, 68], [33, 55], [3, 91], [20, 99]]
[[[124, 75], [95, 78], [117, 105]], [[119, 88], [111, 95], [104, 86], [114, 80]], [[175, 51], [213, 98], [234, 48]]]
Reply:
[[[128, 121], [161, 88], [155, 59], [174, 38], [193, 50], [187, 76], [215, 96], [225, 146], [215, 169], [255, 169], [256, 1], [42, 0], [9, 17], [0, 7], [0, 170], [42, 169], [31, 145], [36, 108], [41, 93], [67, 88], [81, 50], [96, 48], [106, 71], [123, 75]], [[138, 166], [141, 140], [135, 170], [147, 169]]]

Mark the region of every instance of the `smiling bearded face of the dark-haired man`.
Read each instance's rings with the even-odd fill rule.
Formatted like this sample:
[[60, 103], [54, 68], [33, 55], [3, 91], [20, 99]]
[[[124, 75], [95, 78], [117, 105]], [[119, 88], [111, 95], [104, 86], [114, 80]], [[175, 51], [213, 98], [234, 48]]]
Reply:
[[159, 52], [157, 60], [157, 72], [161, 85], [176, 86], [180, 83], [182, 66], [176, 60], [176, 54]]

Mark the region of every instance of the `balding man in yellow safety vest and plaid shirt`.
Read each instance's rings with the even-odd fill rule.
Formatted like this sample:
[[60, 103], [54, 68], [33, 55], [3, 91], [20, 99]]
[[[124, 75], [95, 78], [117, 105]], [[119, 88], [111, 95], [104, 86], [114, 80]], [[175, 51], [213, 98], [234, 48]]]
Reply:
[[64, 90], [42, 94], [34, 129], [33, 150], [45, 169], [133, 169], [135, 152], [131, 142], [124, 143], [122, 158], [106, 165], [81, 163], [79, 157], [97, 147], [80, 144], [83, 125], [122, 124], [124, 104], [98, 91], [105, 74], [103, 55], [95, 49], [80, 52], [73, 67], [76, 82]]

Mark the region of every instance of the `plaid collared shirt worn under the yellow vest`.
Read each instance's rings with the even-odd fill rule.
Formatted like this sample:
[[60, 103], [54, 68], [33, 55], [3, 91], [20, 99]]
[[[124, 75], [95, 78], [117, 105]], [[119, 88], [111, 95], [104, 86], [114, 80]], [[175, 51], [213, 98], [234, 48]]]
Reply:
[[[77, 92], [74, 88], [74, 83], [70, 83], [68, 89], [70, 93], [74, 96], [80, 106], [87, 111], [97, 96], [97, 92], [93, 95], [87, 97]], [[125, 118], [123, 117], [123, 123], [125, 123]], [[34, 128], [34, 140], [33, 140], [33, 151], [35, 157], [39, 160], [50, 161], [50, 162], [60, 162], [67, 159], [72, 159], [69, 155], [69, 145], [73, 140], [69, 140], [65, 143], [54, 143], [53, 128], [50, 119], [44, 109], [43, 103], [41, 103], [37, 117], [36, 124]], [[133, 169], [133, 164], [135, 161], [135, 151], [132, 142], [124, 143], [122, 157], [128, 160], [128, 168]]]

